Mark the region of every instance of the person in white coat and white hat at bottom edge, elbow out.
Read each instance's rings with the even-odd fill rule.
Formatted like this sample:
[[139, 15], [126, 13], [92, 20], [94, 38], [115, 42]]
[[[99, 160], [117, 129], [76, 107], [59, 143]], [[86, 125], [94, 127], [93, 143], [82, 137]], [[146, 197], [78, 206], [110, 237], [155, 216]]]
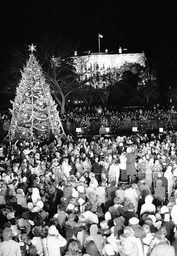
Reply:
[[45, 256], [58, 256], [60, 255], [60, 247], [67, 244], [66, 239], [58, 233], [56, 226], [52, 225], [48, 229], [48, 235], [42, 239], [42, 246]]

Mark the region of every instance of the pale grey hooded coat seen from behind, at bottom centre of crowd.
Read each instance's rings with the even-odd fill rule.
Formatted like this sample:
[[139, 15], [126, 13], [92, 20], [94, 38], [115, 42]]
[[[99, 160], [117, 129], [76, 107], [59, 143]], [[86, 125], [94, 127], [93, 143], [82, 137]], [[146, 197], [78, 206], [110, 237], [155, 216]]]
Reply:
[[98, 227], [96, 224], [91, 225], [90, 227], [90, 235], [86, 236], [86, 242], [89, 243], [90, 241], [94, 241], [99, 253], [103, 255], [102, 249], [103, 249], [103, 237], [98, 233]]

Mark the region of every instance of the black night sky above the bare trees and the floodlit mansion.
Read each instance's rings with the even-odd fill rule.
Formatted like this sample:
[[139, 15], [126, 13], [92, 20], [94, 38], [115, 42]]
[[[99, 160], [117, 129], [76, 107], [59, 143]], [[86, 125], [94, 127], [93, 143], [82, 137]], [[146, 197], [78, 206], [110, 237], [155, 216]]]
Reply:
[[176, 1], [1, 0], [0, 20], [1, 68], [11, 47], [35, 44], [42, 34], [62, 34], [83, 51], [98, 52], [100, 33], [102, 52], [118, 52], [119, 46], [147, 51], [164, 80], [169, 54], [177, 52]]

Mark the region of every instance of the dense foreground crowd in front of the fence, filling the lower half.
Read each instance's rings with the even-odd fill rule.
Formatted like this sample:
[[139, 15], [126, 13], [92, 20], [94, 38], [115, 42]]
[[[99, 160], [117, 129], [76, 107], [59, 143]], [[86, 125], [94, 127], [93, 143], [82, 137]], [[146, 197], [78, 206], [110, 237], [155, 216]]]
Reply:
[[0, 145], [0, 256], [177, 255], [177, 132]]

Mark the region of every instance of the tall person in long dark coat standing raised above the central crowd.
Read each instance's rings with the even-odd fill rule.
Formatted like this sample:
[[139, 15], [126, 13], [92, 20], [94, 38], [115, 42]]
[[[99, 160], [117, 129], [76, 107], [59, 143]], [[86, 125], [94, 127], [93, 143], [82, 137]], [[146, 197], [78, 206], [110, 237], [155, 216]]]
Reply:
[[127, 161], [126, 161], [126, 175], [130, 176], [130, 182], [134, 183], [135, 178], [134, 175], [136, 175], [136, 169], [135, 169], [135, 156], [132, 152], [132, 148], [127, 148]]

